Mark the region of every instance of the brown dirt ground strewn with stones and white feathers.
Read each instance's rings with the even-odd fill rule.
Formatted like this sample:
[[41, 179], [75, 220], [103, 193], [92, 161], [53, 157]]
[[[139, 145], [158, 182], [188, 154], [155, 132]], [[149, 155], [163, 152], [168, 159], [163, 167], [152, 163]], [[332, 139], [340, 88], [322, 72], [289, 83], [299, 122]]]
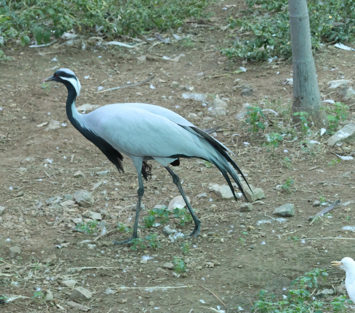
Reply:
[[[228, 10], [237, 12], [237, 9]], [[295, 278], [316, 267], [329, 269], [329, 278], [320, 288], [341, 283], [344, 272], [330, 269], [329, 265], [345, 256], [354, 257], [353, 240], [333, 239], [355, 238], [351, 231], [343, 230], [344, 226], [355, 226], [354, 161], [327, 164], [337, 158], [334, 153], [349, 154], [355, 147], [346, 144], [328, 148], [324, 135], [318, 137], [321, 144], [313, 153], [302, 149], [298, 140], [284, 142], [273, 156], [262, 145], [262, 133], [251, 136], [248, 126], [237, 121], [235, 115], [244, 103], [261, 107], [276, 103], [273, 109], [280, 111], [290, 105], [292, 87], [283, 81], [291, 77], [291, 62], [255, 64], [227, 60], [219, 54], [218, 47], [225, 44], [229, 32], [220, 29], [228, 12], [222, 10], [221, 3], [213, 10], [217, 15], [211, 21], [186, 24], [184, 31], [191, 33], [191, 41], [154, 46], [148, 43], [136, 50], [89, 44], [82, 50], [81, 40], [71, 46], [59, 41], [47, 48], [4, 49], [12, 60], [0, 65], [0, 206], [5, 207], [0, 215], [0, 292], [23, 297], [3, 304], [2, 312], [82, 312], [68, 303], [72, 287], [63, 284], [66, 279], [75, 280], [76, 287], [93, 293], [90, 300], [76, 302], [91, 308], [90, 312], [104, 313], [214, 312], [211, 308], [250, 312], [261, 289], [282, 295]], [[178, 61], [163, 58], [182, 53], [184, 56]], [[146, 60], [138, 61], [139, 55], [146, 55]], [[315, 54], [315, 61], [322, 98], [343, 101], [337, 91], [329, 92], [327, 82], [354, 77], [353, 52], [329, 45]], [[80, 79], [82, 91], [77, 106], [152, 103], [179, 113], [199, 128], [220, 126], [215, 138], [233, 150], [234, 159], [247, 174], [249, 183], [263, 188], [266, 197], [255, 203], [252, 211], [240, 212], [244, 198], [235, 202], [210, 192], [209, 183], [225, 183], [215, 167], [207, 168], [198, 159], [183, 159], [174, 170], [184, 180], [186, 194], [202, 221], [201, 234], [171, 242], [163, 234], [163, 225], [140, 227], [140, 237], [157, 234], [161, 248], [132, 251], [127, 245], [111, 246], [111, 240], [130, 235], [114, 229], [116, 222], [130, 225], [129, 218], [134, 217], [128, 207], [137, 200], [136, 171], [125, 157], [125, 174], [119, 174], [75, 130], [66, 117], [64, 86], [52, 83], [41, 88], [41, 80], [53, 75], [55, 66], [70, 68]], [[240, 66], [247, 71], [236, 73]], [[148, 83], [97, 93], [99, 86], [104, 89], [123, 86], [127, 82], [144, 81], [151, 75], [155, 77]], [[85, 79], [86, 76], [89, 78]], [[228, 99], [227, 114], [211, 116], [208, 105], [183, 99], [182, 93], [186, 91], [171, 88], [173, 81], [193, 87], [192, 92]], [[241, 95], [242, 84], [252, 87], [252, 95]], [[346, 103], [350, 105], [349, 121], [354, 121], [354, 102]], [[37, 127], [50, 120], [59, 121], [60, 128]], [[283, 166], [285, 157], [290, 159], [289, 167]], [[146, 210], [141, 214], [140, 225], [147, 209], [157, 204], [168, 205], [179, 194], [168, 172], [151, 163], [153, 177], [145, 182]], [[110, 172], [105, 177], [95, 174], [103, 170]], [[77, 171], [82, 171], [85, 177], [74, 177]], [[294, 180], [292, 193], [277, 187], [288, 177]], [[102, 184], [92, 190], [98, 182]], [[64, 198], [78, 190], [93, 194], [92, 207], [46, 204], [48, 198]], [[207, 192], [207, 198], [198, 198], [203, 192]], [[329, 203], [340, 199], [342, 205], [329, 218], [323, 217], [310, 225], [309, 216], [321, 210], [312, 205], [320, 196]], [[295, 216], [280, 223], [272, 213], [285, 203], [295, 204]], [[73, 218], [85, 219], [89, 211], [103, 213], [103, 210], [106, 210], [103, 220], [109, 230], [107, 236], [97, 238], [99, 234], [74, 229]], [[268, 222], [261, 223], [262, 220]], [[193, 223], [180, 226], [172, 217], [169, 224], [185, 233], [193, 229]], [[184, 242], [192, 243], [187, 255], [180, 249]], [[13, 246], [21, 249], [19, 256], [11, 257], [9, 248]], [[53, 254], [56, 259], [48, 264], [46, 258]], [[152, 259], [141, 261], [146, 255]], [[189, 270], [179, 277], [174, 270], [163, 268], [174, 257], [184, 258]], [[44, 302], [38, 298], [48, 290], [53, 293], [53, 300]]]

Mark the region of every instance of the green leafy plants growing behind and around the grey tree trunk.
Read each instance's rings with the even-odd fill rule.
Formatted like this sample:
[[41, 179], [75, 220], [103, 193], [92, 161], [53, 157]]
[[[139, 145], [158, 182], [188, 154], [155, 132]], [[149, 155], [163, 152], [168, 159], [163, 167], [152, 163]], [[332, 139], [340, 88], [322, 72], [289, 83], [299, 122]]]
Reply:
[[[228, 25], [247, 35], [229, 42], [228, 48], [220, 49], [221, 53], [253, 61], [272, 60], [275, 56], [289, 58], [292, 51], [288, 1], [246, 0], [245, 3], [249, 7], [240, 12], [240, 17], [229, 17]], [[322, 43], [354, 41], [354, 0], [326, 3], [310, 0], [307, 5], [313, 49]]]

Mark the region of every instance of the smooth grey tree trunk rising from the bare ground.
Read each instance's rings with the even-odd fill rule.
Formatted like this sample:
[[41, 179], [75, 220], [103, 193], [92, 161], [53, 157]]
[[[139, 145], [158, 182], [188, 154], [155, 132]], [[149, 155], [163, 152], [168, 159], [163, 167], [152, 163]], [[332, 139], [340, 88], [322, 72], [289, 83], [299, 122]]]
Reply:
[[[326, 126], [319, 92], [316, 66], [312, 55], [311, 32], [306, 0], [289, 0], [290, 32], [292, 45], [293, 103], [292, 113], [307, 112], [317, 126]], [[299, 122], [297, 116], [293, 121]]]

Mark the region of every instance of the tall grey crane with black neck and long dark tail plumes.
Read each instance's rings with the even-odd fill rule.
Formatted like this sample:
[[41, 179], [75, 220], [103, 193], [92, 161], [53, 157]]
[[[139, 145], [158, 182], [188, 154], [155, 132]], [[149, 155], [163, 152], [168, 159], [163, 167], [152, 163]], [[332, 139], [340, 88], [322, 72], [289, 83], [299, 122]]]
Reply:
[[66, 86], [68, 90], [66, 113], [72, 125], [95, 144], [119, 171], [123, 172], [121, 153], [132, 159], [137, 170], [139, 186], [133, 235], [125, 241], [114, 241], [115, 244], [138, 238], [139, 211], [144, 193], [142, 176], [148, 180], [152, 169], [152, 165], [147, 164], [147, 160], [157, 161], [173, 177], [173, 182], [178, 187], [195, 222], [195, 228], [189, 236], [198, 235], [201, 222], [187, 201], [179, 176], [171, 170], [169, 163], [178, 166], [179, 158], [207, 160], [222, 172], [235, 199], [237, 198], [228, 174], [245, 196], [237, 172], [245, 182], [246, 179], [229, 156], [228, 152], [232, 152], [179, 114], [161, 106], [145, 103], [109, 104], [87, 114], [81, 114], [75, 107], [75, 100], [80, 93], [81, 85], [74, 72], [61, 68], [53, 76], [43, 79], [42, 82], [48, 81], [63, 83]]

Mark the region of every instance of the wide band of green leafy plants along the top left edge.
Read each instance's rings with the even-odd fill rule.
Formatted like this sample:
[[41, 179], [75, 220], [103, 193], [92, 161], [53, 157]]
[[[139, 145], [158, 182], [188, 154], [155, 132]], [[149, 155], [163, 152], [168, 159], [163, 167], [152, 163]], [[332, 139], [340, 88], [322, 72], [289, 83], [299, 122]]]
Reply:
[[[208, 0], [0, 0], [0, 32], [6, 43], [21, 39], [26, 45], [34, 37], [48, 43], [64, 32], [96, 33], [114, 38], [118, 34], [137, 36], [181, 27], [186, 18], [208, 16]], [[191, 44], [189, 40], [184, 41]]]

